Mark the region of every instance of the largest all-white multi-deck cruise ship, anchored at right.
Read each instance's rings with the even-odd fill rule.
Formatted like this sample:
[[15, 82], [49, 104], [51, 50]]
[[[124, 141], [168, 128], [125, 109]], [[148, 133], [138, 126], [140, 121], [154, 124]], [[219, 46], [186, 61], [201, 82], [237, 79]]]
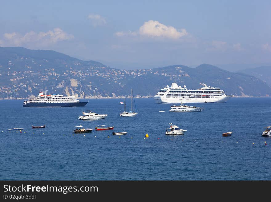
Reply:
[[172, 83], [161, 89], [155, 96], [156, 103], [200, 103], [200, 102], [226, 102], [232, 95], [226, 95], [223, 90], [214, 87], [204, 87], [200, 89], [187, 89]]

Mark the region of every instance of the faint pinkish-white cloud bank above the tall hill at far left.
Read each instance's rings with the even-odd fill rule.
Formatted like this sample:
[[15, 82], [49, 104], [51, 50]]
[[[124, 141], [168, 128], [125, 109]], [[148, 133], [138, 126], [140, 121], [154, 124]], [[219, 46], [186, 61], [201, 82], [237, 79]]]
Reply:
[[71, 40], [74, 36], [72, 34], [67, 34], [60, 28], [54, 28], [47, 32], [36, 33], [34, 31], [27, 32], [25, 35], [19, 33], [5, 33], [3, 44], [22, 46], [31, 44], [40, 44], [42, 46], [47, 46], [50, 44], [55, 44], [59, 41]]

